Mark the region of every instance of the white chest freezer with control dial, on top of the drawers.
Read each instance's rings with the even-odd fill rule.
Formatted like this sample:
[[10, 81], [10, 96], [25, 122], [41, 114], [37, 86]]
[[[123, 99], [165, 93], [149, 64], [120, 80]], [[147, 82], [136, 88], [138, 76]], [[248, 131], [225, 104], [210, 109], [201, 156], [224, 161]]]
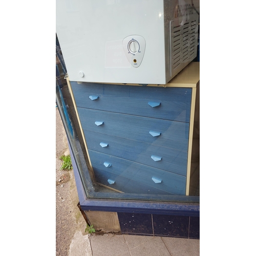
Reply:
[[71, 81], [165, 84], [197, 56], [199, 0], [56, 0]]

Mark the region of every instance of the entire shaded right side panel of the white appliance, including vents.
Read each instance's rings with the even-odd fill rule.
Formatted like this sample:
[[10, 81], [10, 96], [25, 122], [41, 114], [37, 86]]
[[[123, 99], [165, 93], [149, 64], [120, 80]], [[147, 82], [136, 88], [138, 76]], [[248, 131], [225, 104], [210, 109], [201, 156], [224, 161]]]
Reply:
[[[194, 2], [196, 10], [189, 0], [164, 1], [165, 76], [167, 81], [176, 76], [196, 57], [199, 0]], [[193, 20], [195, 21], [193, 22]], [[180, 31], [180, 46], [178, 47], [177, 31]], [[191, 45], [192, 39], [195, 42], [194, 46]], [[188, 55], [186, 55], [185, 48], [188, 49]], [[177, 60], [179, 61], [177, 62]]]

